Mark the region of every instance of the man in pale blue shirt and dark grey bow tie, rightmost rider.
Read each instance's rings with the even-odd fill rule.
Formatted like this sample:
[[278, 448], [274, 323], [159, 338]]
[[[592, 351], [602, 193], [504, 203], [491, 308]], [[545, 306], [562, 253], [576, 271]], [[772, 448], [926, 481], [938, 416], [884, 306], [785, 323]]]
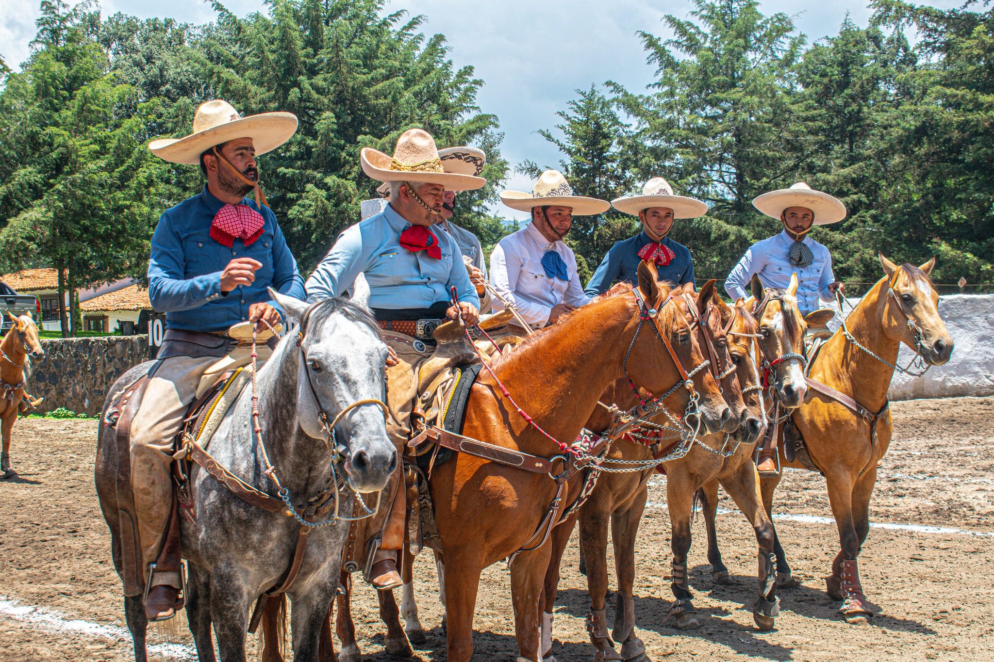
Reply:
[[[762, 194], [752, 200], [752, 205], [778, 219], [783, 229], [745, 251], [725, 281], [725, 291], [732, 299], [749, 296], [746, 288], [753, 274], [763, 287], [786, 290], [796, 273], [797, 308], [802, 316], [818, 310], [819, 300], [830, 302], [836, 292], [845, 291], [832, 273], [828, 248], [808, 236], [814, 225], [837, 223], [846, 217], [846, 205], [841, 200], [798, 182], [789, 189]], [[778, 472], [774, 435], [763, 437], [756, 468], [764, 475]]]

